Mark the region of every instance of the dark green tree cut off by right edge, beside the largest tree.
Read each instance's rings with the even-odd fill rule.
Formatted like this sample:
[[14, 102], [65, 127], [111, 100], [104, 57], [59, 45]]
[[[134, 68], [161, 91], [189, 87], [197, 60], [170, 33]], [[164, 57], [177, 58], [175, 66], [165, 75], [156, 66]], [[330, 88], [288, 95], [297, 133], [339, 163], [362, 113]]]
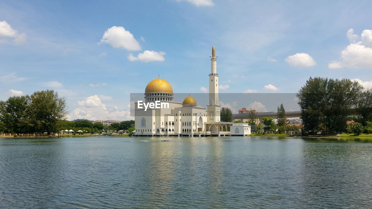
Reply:
[[362, 91], [356, 106], [357, 121], [366, 126], [368, 121], [372, 121], [372, 88]]

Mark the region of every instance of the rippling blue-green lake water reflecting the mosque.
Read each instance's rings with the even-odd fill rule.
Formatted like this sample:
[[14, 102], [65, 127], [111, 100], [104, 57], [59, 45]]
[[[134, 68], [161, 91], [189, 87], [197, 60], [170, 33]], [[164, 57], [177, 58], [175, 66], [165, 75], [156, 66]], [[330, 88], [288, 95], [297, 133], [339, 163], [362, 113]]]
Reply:
[[372, 141], [170, 139], [0, 138], [0, 208], [372, 208]]

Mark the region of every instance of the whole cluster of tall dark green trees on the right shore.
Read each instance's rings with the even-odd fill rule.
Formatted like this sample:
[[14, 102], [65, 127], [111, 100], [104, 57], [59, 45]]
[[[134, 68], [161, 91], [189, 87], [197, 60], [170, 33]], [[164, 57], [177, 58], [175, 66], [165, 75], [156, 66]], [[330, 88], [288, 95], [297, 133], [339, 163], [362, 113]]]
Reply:
[[303, 134], [372, 133], [372, 89], [357, 81], [310, 77], [297, 97]]

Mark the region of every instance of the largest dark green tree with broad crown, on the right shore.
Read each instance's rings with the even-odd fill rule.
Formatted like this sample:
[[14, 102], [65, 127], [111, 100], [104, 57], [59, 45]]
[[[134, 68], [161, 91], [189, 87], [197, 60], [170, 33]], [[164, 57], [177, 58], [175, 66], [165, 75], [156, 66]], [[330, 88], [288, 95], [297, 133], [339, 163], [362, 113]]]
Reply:
[[303, 133], [345, 130], [362, 89], [349, 79], [310, 77], [297, 93]]

